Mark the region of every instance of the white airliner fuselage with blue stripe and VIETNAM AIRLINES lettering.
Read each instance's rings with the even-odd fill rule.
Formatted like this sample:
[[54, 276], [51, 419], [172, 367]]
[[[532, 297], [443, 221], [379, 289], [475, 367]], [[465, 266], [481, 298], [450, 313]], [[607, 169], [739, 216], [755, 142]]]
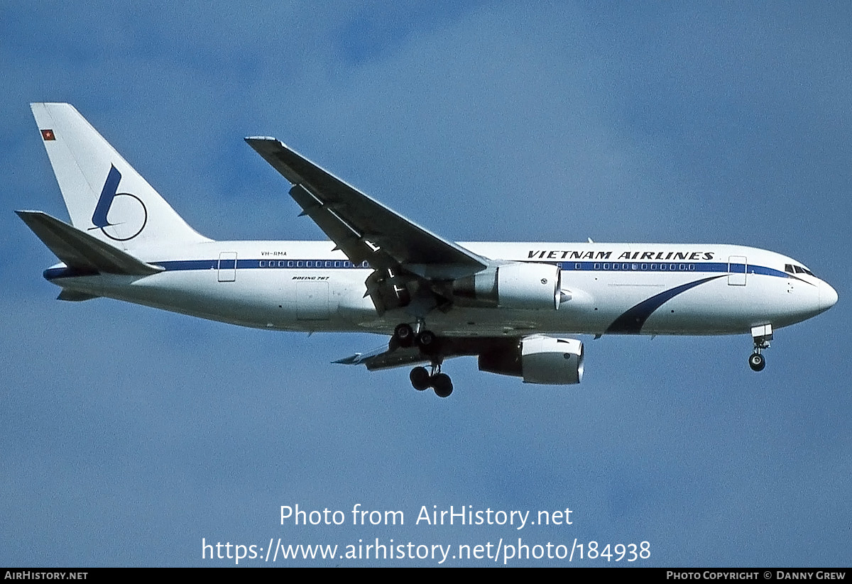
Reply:
[[[494, 260], [561, 266], [558, 309], [454, 306], [426, 317], [448, 336], [563, 334], [728, 335], [780, 328], [837, 301], [827, 283], [784, 255], [735, 245], [658, 243], [460, 243]], [[367, 266], [331, 242], [194, 243], [134, 249], [163, 266], [150, 276], [45, 277], [65, 289], [263, 329], [390, 334], [404, 310], [381, 317], [365, 295]], [[63, 273], [64, 272], [64, 273]], [[568, 299], [569, 298], [569, 299]]]

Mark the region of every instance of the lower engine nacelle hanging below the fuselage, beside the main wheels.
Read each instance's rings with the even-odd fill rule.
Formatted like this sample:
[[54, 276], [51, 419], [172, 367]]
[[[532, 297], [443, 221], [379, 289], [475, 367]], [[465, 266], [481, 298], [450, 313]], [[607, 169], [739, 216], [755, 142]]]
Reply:
[[583, 343], [532, 335], [479, 356], [481, 371], [523, 377], [524, 383], [571, 385], [583, 379]]

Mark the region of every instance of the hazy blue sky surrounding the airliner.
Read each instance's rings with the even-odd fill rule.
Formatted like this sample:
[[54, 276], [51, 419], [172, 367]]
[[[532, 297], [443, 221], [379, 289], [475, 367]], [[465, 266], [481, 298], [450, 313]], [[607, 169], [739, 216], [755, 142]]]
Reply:
[[[844, 3], [5, 3], [0, 564], [521, 536], [849, 565], [849, 38]], [[759, 375], [747, 336], [613, 336], [584, 339], [579, 386], [458, 359], [441, 400], [406, 369], [330, 364], [371, 335], [55, 301], [55, 258], [13, 213], [66, 217], [28, 107], [49, 100], [211, 238], [322, 238], [242, 140], [275, 135], [446, 238], [740, 243], [840, 301], [777, 331]], [[282, 505], [355, 503], [406, 525], [279, 524]], [[415, 525], [433, 505], [573, 525]]]

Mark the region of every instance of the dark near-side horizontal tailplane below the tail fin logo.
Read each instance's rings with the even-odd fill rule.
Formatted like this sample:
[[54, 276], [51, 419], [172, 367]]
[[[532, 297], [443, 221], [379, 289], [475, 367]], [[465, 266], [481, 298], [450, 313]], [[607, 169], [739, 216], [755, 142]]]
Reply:
[[132, 276], [148, 276], [162, 272], [164, 269], [137, 260], [121, 249], [112, 247], [109, 243], [102, 242], [43, 211], [15, 211], [15, 213], [48, 246], [50, 251], [70, 268], [86, 272]]

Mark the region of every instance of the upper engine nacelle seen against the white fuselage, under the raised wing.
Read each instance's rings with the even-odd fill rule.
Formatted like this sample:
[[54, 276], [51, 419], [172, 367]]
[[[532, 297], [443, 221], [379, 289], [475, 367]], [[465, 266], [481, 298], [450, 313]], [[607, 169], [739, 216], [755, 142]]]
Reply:
[[472, 306], [556, 310], [561, 301], [559, 266], [511, 263], [452, 283], [452, 294]]

